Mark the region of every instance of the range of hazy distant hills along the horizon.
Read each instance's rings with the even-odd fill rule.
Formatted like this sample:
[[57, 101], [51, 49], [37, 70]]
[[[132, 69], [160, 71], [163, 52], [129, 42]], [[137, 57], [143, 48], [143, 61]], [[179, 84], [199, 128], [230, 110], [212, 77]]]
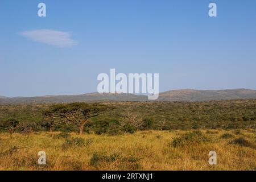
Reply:
[[[170, 90], [159, 94], [155, 101], [209, 101], [209, 100], [236, 100], [256, 99], [256, 90], [229, 89], [229, 90]], [[93, 101], [148, 101], [147, 96], [135, 94], [100, 94], [88, 93], [73, 96], [42, 96], [42, 97], [3, 97], [0, 104], [19, 103], [66, 103], [66, 102], [93, 102]], [[152, 100], [151, 100], [152, 101]]]

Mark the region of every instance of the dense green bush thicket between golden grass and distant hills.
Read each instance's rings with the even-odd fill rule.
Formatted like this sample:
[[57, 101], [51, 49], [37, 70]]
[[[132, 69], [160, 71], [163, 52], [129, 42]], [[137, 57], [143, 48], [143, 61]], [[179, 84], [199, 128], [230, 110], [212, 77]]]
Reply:
[[[84, 133], [117, 135], [137, 130], [256, 128], [256, 100], [102, 102], [101, 105], [115, 109], [90, 118], [85, 123]], [[43, 113], [50, 107], [54, 106], [0, 105], [0, 131], [14, 124], [16, 126], [12, 127], [19, 132], [46, 131], [48, 125]], [[79, 128], [72, 122], [59, 122], [53, 126], [53, 131], [79, 131]]]

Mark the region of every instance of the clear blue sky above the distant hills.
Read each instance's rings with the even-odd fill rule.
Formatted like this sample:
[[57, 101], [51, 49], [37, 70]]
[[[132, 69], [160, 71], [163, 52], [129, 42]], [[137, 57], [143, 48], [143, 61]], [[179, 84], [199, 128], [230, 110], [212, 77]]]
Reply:
[[110, 68], [159, 73], [160, 92], [256, 89], [255, 9], [253, 0], [1, 0], [0, 95], [96, 92]]

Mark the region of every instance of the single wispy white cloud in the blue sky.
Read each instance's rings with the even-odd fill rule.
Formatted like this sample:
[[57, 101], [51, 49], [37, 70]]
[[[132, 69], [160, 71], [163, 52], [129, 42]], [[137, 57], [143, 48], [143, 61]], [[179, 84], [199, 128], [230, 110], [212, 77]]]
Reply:
[[26, 36], [35, 42], [46, 43], [56, 47], [72, 47], [78, 44], [76, 40], [71, 39], [71, 32], [41, 29], [20, 32], [20, 35]]

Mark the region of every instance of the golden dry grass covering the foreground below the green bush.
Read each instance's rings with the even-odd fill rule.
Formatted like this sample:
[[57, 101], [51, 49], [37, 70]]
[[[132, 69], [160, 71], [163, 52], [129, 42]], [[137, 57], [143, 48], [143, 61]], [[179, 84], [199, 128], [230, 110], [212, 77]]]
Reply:
[[[13, 134], [11, 139], [2, 133], [0, 170], [256, 170], [255, 130], [240, 131], [201, 130], [210, 140], [176, 147], [174, 138], [187, 131], [84, 134], [81, 146], [65, 148], [65, 138], [53, 137], [57, 132]], [[251, 146], [229, 143], [241, 137]], [[46, 151], [46, 166], [38, 165], [39, 151]], [[209, 151], [217, 152], [217, 165], [208, 164]]]

